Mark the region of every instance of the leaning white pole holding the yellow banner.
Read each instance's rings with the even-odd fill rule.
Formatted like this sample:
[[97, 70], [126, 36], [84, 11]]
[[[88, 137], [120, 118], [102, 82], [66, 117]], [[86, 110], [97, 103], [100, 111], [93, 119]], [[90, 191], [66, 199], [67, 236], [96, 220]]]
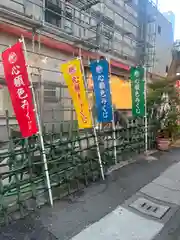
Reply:
[[[80, 59], [80, 62], [81, 62], [81, 69], [82, 69], [82, 74], [83, 74], [83, 79], [84, 79], [84, 84], [85, 84], [85, 89], [86, 89], [86, 96], [87, 96], [87, 99], [89, 99], [88, 92], [87, 92], [87, 89], [88, 89], [87, 87], [88, 86], [87, 86], [86, 76], [85, 76], [85, 72], [84, 72], [84, 66], [83, 66], [83, 63], [82, 63], [81, 54], [79, 54], [79, 55], [80, 55], [79, 59]], [[102, 165], [102, 158], [101, 158], [101, 153], [100, 153], [100, 148], [99, 148], [97, 132], [96, 132], [95, 124], [94, 124], [92, 111], [91, 111], [91, 109], [89, 109], [89, 110], [90, 110], [91, 119], [92, 119], [92, 125], [93, 125], [93, 132], [94, 132], [96, 148], [97, 148], [98, 161], [99, 161], [99, 166], [100, 166], [100, 170], [101, 170], [101, 177], [102, 177], [102, 180], [105, 180], [104, 169], [103, 169], [103, 165]]]

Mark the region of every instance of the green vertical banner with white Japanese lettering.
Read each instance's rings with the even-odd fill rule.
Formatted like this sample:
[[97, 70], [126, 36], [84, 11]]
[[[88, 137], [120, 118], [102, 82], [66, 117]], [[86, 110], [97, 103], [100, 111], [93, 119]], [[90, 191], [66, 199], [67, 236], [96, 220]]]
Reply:
[[144, 68], [132, 67], [130, 70], [132, 114], [134, 117], [145, 116]]

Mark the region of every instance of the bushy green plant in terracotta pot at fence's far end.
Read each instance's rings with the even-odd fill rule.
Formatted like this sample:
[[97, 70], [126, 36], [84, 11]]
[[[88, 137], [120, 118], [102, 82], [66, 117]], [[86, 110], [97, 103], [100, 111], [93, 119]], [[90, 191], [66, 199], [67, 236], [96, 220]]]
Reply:
[[159, 150], [169, 149], [178, 132], [179, 95], [175, 79], [159, 79], [148, 84], [147, 107], [156, 130]]

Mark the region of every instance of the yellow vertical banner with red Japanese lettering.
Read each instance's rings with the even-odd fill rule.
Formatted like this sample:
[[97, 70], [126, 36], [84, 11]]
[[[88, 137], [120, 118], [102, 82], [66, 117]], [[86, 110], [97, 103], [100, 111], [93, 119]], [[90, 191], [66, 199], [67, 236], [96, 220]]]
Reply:
[[80, 60], [75, 59], [62, 64], [61, 72], [63, 73], [69, 93], [74, 103], [79, 128], [91, 128], [92, 119], [85, 92]]

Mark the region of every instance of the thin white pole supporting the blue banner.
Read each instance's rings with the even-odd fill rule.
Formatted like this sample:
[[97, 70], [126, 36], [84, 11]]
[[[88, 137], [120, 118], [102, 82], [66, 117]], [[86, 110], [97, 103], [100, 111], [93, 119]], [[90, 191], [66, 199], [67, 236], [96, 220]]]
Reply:
[[[108, 58], [109, 62], [109, 82], [111, 83], [111, 59]], [[112, 89], [110, 86], [110, 92], [111, 92], [111, 101], [112, 101]], [[112, 104], [112, 130], [113, 130], [113, 147], [114, 147], [114, 162], [115, 165], [117, 164], [117, 144], [116, 144], [116, 126], [114, 121], [114, 107]]]

